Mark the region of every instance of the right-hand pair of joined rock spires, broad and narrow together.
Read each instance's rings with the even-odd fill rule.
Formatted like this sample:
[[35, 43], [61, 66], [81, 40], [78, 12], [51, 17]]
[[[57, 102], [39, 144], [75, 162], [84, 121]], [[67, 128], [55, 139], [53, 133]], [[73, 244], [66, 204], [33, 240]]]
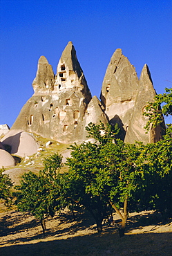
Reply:
[[124, 142], [153, 143], [162, 138], [162, 127], [151, 129], [149, 134], [144, 129], [147, 118], [143, 110], [154, 97], [148, 66], [144, 66], [138, 80], [133, 65], [122, 55], [122, 50], [117, 49], [108, 64], [100, 98], [111, 125], [117, 123], [120, 127], [119, 135]]

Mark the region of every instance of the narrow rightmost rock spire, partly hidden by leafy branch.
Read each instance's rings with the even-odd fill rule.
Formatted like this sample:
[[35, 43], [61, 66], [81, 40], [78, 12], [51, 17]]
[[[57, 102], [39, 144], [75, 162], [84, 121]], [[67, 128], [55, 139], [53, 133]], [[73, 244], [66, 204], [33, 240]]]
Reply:
[[[140, 75], [139, 91], [135, 100], [135, 107], [133, 109], [133, 115], [131, 121], [128, 124], [126, 136], [124, 142], [135, 143], [137, 141], [143, 141], [144, 143], [154, 143], [157, 140], [162, 139], [164, 134], [164, 123], [156, 129], [151, 130], [146, 134], [144, 129], [146, 122], [149, 118], [143, 116], [146, 104], [153, 102], [156, 92], [153, 89], [153, 82], [151, 80], [151, 74], [149, 67], [145, 64]], [[164, 128], [164, 129], [163, 129]]]

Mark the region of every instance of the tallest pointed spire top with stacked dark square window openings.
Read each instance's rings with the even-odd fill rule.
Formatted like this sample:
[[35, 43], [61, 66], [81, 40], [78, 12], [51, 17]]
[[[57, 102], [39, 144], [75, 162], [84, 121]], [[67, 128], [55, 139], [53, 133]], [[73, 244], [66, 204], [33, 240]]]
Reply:
[[77, 60], [76, 51], [72, 42], [68, 42], [64, 49], [57, 66], [57, 75], [55, 76], [55, 91], [57, 93], [70, 88], [81, 91], [86, 101], [90, 101], [91, 93], [88, 89], [82, 68]]

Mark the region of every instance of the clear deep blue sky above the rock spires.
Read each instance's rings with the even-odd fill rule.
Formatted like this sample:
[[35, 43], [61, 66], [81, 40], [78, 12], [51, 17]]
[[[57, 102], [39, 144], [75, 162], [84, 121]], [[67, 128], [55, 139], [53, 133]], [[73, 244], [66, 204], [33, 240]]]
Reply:
[[116, 48], [138, 76], [148, 64], [157, 93], [172, 85], [171, 0], [0, 0], [0, 7], [0, 124], [11, 127], [32, 96], [39, 57], [56, 73], [68, 41], [98, 98]]

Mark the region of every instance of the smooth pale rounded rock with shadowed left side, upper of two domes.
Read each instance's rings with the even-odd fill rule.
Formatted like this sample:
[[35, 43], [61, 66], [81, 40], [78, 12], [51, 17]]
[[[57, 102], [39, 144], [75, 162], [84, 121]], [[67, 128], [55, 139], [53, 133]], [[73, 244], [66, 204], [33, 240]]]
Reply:
[[4, 147], [9, 147], [10, 154], [25, 157], [37, 153], [38, 145], [31, 134], [21, 130], [10, 130], [1, 140]]

